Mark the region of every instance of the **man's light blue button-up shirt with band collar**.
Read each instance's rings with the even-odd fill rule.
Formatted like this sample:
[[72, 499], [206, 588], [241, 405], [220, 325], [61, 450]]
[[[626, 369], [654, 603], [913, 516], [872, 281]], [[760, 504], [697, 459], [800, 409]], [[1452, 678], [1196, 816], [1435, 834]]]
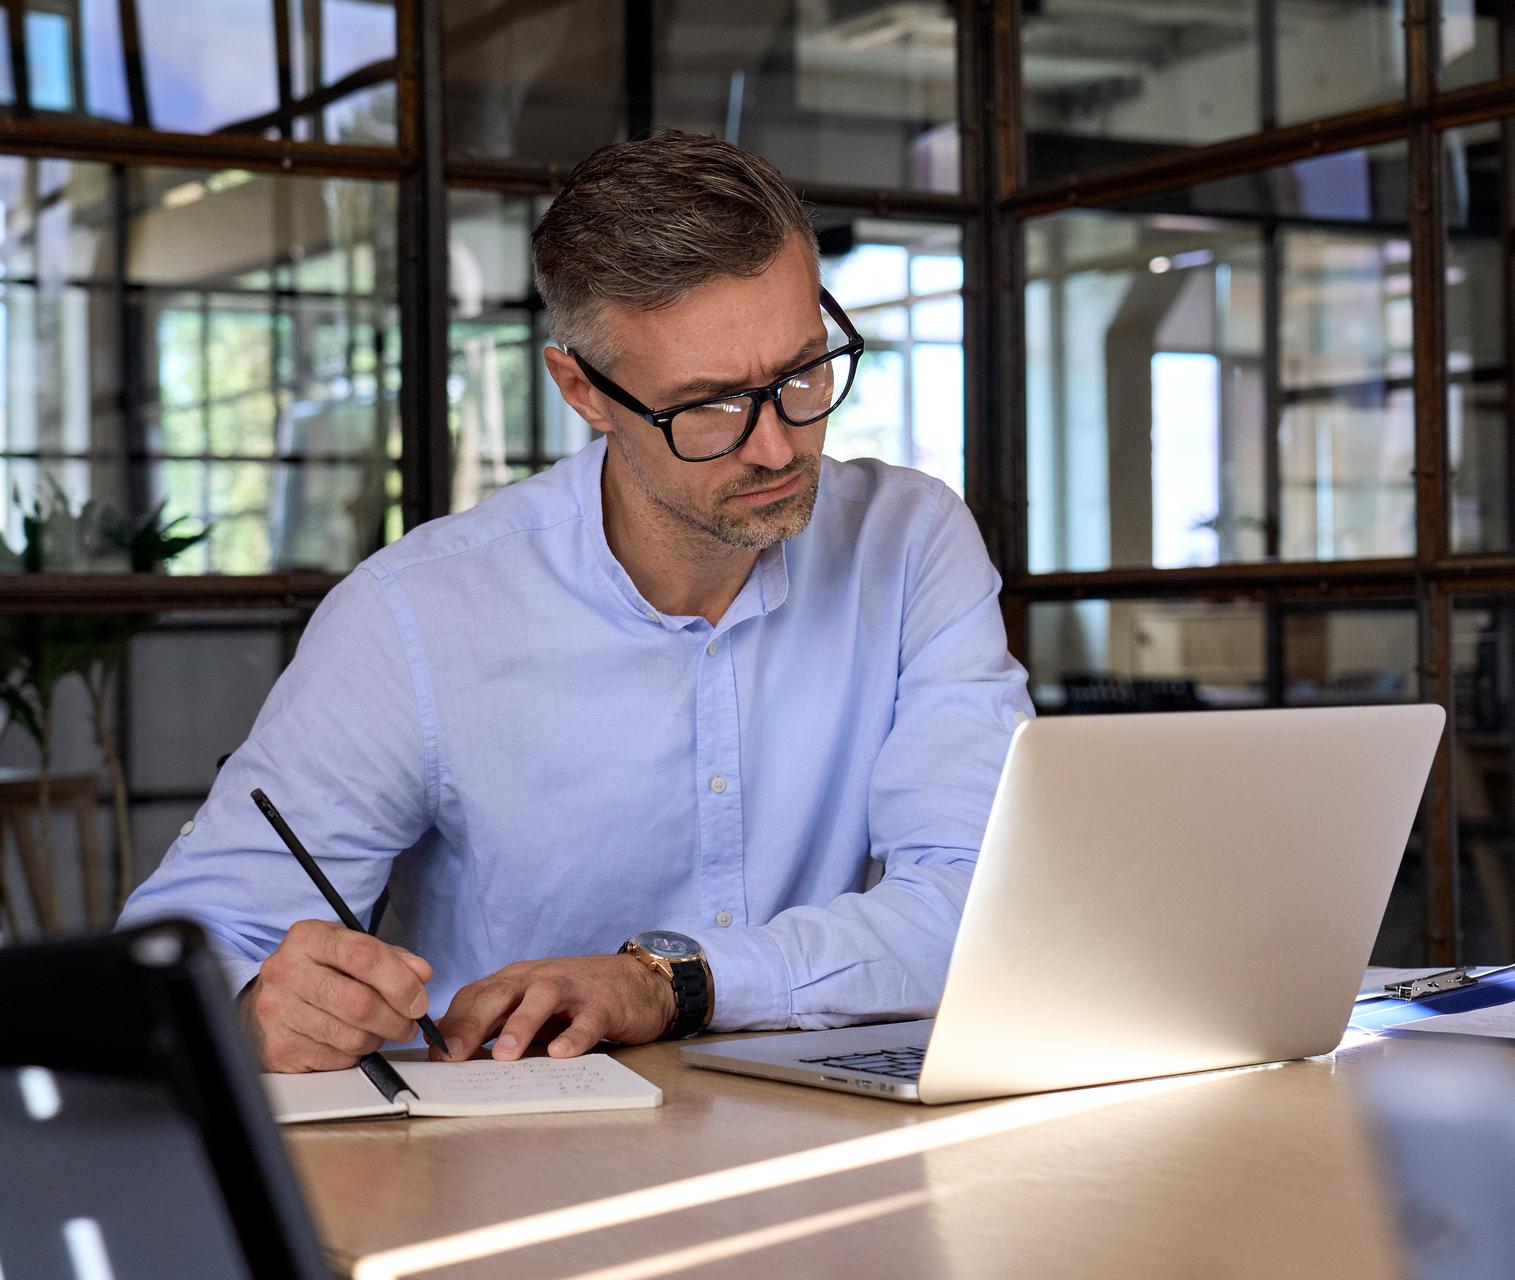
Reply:
[[[962, 501], [823, 460], [809, 527], [717, 626], [604, 539], [595, 441], [379, 551], [321, 603], [247, 742], [129, 901], [198, 919], [232, 982], [333, 918], [248, 798], [435, 968], [700, 941], [712, 1029], [930, 1015], [1011, 733], [1030, 713]], [[882, 880], [864, 892], [870, 860]]]

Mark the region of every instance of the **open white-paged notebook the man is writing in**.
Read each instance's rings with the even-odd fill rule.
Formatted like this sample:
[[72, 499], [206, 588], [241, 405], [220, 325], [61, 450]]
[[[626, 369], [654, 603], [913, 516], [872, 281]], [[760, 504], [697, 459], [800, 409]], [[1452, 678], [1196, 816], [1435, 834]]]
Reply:
[[662, 1106], [662, 1089], [614, 1057], [518, 1062], [389, 1062], [368, 1054], [347, 1071], [264, 1074], [283, 1124], [388, 1115], [520, 1115]]

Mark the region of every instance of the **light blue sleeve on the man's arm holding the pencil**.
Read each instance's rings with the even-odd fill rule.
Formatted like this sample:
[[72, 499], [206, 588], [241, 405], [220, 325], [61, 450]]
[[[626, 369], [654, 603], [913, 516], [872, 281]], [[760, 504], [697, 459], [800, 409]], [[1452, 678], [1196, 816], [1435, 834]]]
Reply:
[[317, 609], [247, 741], [120, 926], [188, 916], [245, 986], [297, 919], [333, 918], [250, 798], [262, 788], [355, 912], [435, 807], [433, 727], [406, 660], [403, 600], [359, 568]]

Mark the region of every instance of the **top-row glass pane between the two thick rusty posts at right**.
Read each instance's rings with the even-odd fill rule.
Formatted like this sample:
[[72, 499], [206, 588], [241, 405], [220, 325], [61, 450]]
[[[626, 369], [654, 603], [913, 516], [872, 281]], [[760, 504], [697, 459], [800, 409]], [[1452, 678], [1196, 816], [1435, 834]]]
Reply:
[[1262, 8], [1276, 14], [1280, 124], [1403, 95], [1401, 15], [1380, 0], [1042, 0], [1026, 6], [1021, 29], [1029, 180], [1262, 129]]

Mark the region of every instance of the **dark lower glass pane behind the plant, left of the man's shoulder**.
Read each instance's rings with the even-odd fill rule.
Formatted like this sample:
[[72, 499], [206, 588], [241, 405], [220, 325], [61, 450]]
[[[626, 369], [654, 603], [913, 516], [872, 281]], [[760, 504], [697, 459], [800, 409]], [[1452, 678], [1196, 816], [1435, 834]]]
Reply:
[[[44, 829], [32, 818], [33, 845], [39, 856], [52, 854], [52, 874], [32, 866], [29, 877], [17, 842], [5, 841], [0, 903], [9, 912], [0, 913], [0, 935], [77, 930], [114, 918], [121, 895], [152, 873], [200, 807], [217, 762], [247, 735], [303, 626], [303, 612], [283, 609], [0, 620], [6, 680], [38, 710], [42, 689], [27, 677], [38, 659], [71, 668], [48, 698], [52, 821]], [[121, 644], [126, 656], [117, 663]], [[0, 736], [8, 785], [39, 797], [41, 760], [36, 733], [14, 721]]]

